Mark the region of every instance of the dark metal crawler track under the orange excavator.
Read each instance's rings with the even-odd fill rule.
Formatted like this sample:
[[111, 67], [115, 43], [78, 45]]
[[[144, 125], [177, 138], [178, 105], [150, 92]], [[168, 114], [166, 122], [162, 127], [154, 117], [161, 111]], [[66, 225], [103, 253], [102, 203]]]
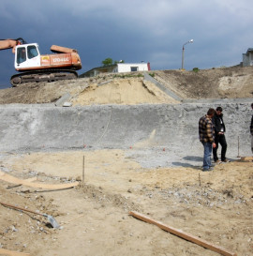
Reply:
[[54, 82], [77, 78], [77, 72], [69, 69], [36, 70], [13, 75], [10, 78], [10, 83], [13, 87], [16, 87], [22, 83]]

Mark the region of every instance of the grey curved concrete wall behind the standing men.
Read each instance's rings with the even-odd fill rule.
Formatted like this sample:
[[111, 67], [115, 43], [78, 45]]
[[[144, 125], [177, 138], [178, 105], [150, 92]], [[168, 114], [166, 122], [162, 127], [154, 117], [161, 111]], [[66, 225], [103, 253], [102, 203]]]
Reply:
[[[240, 100], [241, 101], [241, 100]], [[0, 151], [45, 148], [165, 147], [172, 152], [200, 154], [198, 122], [210, 107], [223, 107], [228, 153], [250, 156], [250, 103], [212, 102], [174, 105], [0, 106]]]

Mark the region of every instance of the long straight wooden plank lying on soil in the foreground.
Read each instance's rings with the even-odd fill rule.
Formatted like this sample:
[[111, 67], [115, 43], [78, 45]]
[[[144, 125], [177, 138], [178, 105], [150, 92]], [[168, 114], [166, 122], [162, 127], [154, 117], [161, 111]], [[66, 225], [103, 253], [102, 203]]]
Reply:
[[135, 217], [135, 218], [139, 218], [145, 222], [148, 222], [148, 223], [151, 223], [151, 224], [155, 224], [157, 227], [159, 227], [160, 229], [164, 230], [164, 231], [167, 231], [169, 233], [173, 233], [179, 237], [182, 237], [184, 239], [186, 239], [187, 241], [190, 241], [190, 242], [193, 242], [203, 248], [209, 248], [213, 251], [216, 251], [218, 253], [220, 253], [221, 255], [224, 255], [224, 256], [236, 256], [236, 253], [233, 253], [229, 250], [227, 250], [226, 248], [222, 248], [222, 247], [218, 247], [216, 245], [213, 245], [203, 239], [201, 239], [200, 237], [198, 236], [194, 236], [192, 234], [189, 234], [189, 233], [185, 233], [181, 230], [178, 230], [178, 229], [174, 229], [168, 225], [165, 225], [163, 224], [162, 222], [160, 221], [157, 221], [153, 218], [149, 218], [147, 216], [144, 216], [138, 212], [135, 212], [135, 211], [131, 211], [129, 212], [129, 215]]

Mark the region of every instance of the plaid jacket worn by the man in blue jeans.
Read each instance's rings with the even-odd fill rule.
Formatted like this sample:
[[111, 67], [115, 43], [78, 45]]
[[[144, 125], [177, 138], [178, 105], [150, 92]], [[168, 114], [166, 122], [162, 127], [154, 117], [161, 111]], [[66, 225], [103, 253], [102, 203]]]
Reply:
[[215, 142], [215, 129], [212, 119], [207, 115], [201, 117], [199, 121], [199, 135], [201, 143], [214, 143]]

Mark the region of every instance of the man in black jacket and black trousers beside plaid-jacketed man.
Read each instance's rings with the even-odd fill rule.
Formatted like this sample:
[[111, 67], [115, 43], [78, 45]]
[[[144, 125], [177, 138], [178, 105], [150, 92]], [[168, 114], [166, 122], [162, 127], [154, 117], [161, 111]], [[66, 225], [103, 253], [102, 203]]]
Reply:
[[216, 113], [212, 119], [213, 124], [215, 126], [215, 143], [216, 147], [213, 148], [213, 155], [214, 155], [214, 160], [216, 163], [220, 163], [220, 160], [217, 157], [217, 149], [218, 149], [218, 143], [221, 145], [221, 161], [222, 162], [228, 162], [229, 160], [226, 158], [226, 152], [227, 152], [227, 142], [226, 142], [226, 137], [225, 137], [225, 124], [223, 121], [223, 114], [222, 114], [222, 108], [217, 107], [216, 108]]

